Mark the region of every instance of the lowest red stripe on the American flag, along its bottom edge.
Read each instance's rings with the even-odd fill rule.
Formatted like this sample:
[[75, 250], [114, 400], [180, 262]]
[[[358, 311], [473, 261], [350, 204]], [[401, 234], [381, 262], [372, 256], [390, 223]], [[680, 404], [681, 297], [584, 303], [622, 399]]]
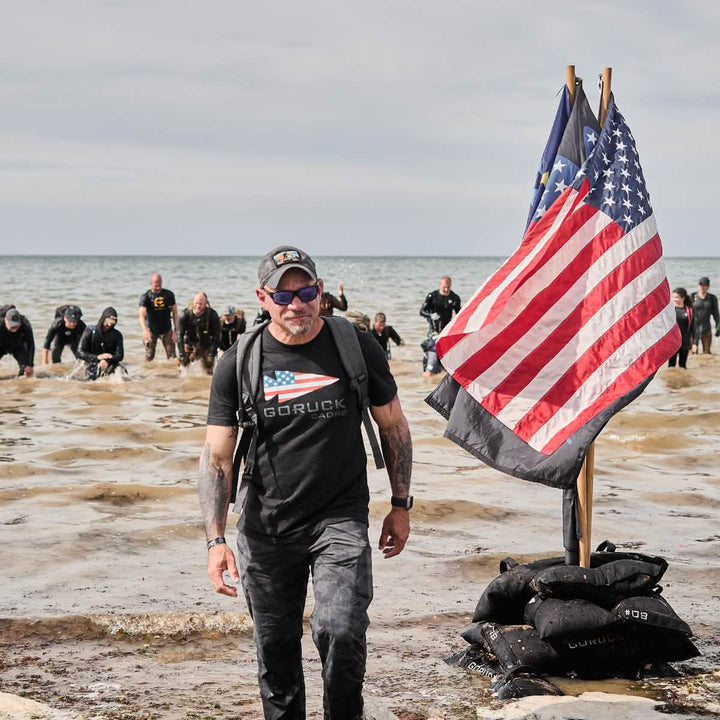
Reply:
[[[666, 281], [667, 283], [667, 281]], [[669, 286], [668, 286], [669, 288]], [[577, 418], [553, 436], [542, 449], [549, 455], [557, 450], [574, 432], [601, 412], [611, 403], [636, 388], [643, 380], [652, 375], [657, 368], [673, 355], [680, 346], [680, 328], [676, 325], [664, 337], [648, 348], [614, 383], [600, 395], [595, 402], [578, 414]]]

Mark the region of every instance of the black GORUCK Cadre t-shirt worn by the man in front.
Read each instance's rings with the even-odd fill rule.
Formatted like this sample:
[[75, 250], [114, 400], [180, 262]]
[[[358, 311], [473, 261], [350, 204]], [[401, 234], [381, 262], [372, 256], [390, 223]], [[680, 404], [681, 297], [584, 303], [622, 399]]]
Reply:
[[[397, 393], [380, 345], [358, 333], [370, 403]], [[357, 395], [349, 387], [330, 330], [302, 345], [262, 332], [258, 447], [241, 530], [288, 536], [334, 520], [367, 521], [369, 493]], [[237, 344], [213, 375], [208, 425], [237, 425]]]

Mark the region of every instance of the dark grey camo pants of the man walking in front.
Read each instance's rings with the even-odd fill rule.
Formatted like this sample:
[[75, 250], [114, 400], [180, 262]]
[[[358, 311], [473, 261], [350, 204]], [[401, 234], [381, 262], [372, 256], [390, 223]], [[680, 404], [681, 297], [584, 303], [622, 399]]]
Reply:
[[255, 623], [266, 720], [304, 720], [302, 616], [310, 573], [310, 626], [322, 662], [325, 720], [363, 716], [372, 567], [367, 525], [344, 521], [302, 541], [238, 534], [238, 564]]

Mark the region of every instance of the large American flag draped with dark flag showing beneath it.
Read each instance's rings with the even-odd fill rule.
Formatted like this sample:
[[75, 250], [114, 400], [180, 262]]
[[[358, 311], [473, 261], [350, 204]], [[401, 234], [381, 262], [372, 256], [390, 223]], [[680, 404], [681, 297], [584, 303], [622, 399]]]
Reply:
[[[578, 95], [520, 247], [437, 339], [452, 379], [428, 398], [470, 452], [560, 487], [680, 345], [634, 138], [614, 98], [599, 133], [585, 106]], [[580, 157], [563, 155], [568, 135]]]

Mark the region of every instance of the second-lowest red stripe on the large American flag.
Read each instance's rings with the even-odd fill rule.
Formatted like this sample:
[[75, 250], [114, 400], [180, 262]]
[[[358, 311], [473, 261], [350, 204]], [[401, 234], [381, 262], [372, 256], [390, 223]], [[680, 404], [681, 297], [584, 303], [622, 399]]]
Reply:
[[605, 360], [648, 321], [662, 313], [669, 302], [670, 290], [667, 280], [663, 280], [646, 298], [643, 298], [632, 310], [619, 318], [578, 358], [577, 362], [568, 368], [555, 385], [515, 425], [513, 432], [526, 442], [532, 438]]

